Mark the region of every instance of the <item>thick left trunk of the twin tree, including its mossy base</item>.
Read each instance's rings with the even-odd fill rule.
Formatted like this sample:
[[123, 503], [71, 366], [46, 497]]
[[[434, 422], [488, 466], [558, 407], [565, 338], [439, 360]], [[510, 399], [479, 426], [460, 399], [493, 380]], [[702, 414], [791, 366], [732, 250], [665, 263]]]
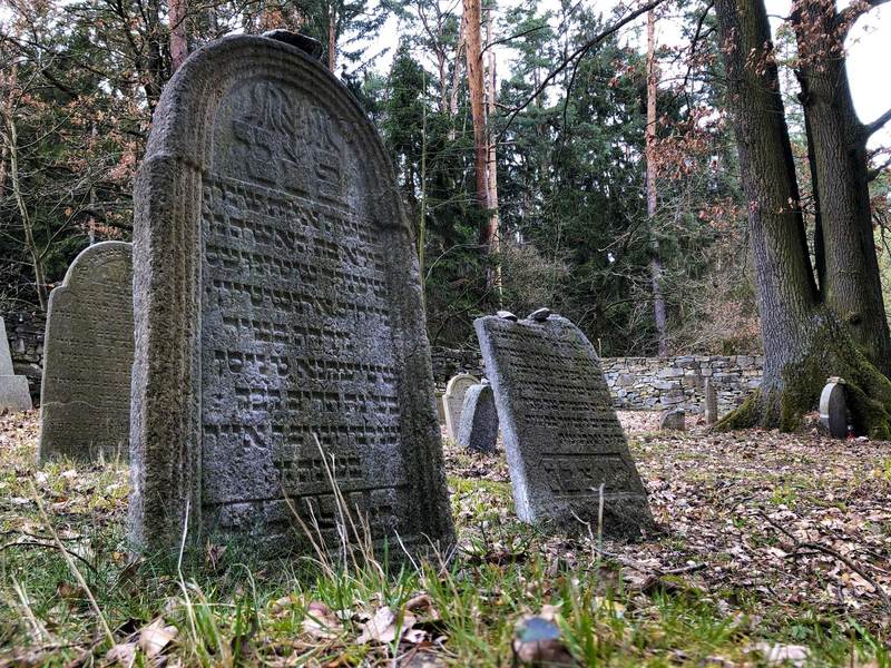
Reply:
[[794, 429], [816, 405], [825, 379], [840, 375], [855, 426], [888, 438], [891, 382], [817, 294], [763, 0], [716, 0], [715, 12], [748, 199], [765, 357], [761, 389], [718, 428]]

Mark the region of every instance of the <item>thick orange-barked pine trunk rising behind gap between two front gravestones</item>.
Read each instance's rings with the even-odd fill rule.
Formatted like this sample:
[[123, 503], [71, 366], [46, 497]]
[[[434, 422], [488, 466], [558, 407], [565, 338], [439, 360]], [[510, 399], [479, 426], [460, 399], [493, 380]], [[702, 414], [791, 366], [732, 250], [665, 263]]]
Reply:
[[[482, 82], [482, 37], [480, 35], [480, 0], [463, 0], [464, 43], [467, 46], [467, 84], [470, 94], [470, 115], [473, 121], [473, 166], [477, 177], [477, 202], [480, 209], [489, 209], [489, 183], [486, 166], [489, 160], [489, 144], [486, 136], [486, 107]], [[480, 245], [489, 250], [489, 220], [480, 220]]]

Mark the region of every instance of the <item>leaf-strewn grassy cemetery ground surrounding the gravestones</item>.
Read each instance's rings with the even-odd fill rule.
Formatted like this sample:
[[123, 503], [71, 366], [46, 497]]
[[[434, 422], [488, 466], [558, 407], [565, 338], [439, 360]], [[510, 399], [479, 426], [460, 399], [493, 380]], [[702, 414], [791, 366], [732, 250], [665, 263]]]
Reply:
[[503, 455], [447, 444], [444, 566], [209, 543], [170, 576], [126, 553], [125, 465], [36, 466], [37, 413], [2, 416], [0, 666], [891, 666], [891, 445], [623, 421], [642, 543], [518, 522]]

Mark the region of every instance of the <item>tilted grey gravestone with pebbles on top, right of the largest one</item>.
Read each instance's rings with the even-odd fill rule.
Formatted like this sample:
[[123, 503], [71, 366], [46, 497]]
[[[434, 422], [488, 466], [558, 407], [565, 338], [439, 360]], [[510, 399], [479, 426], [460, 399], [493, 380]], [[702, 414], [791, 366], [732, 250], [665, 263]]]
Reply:
[[639, 537], [653, 517], [597, 354], [571, 322], [540, 311], [473, 323], [517, 514], [564, 529], [581, 529], [581, 519], [596, 531], [603, 490], [604, 531]]

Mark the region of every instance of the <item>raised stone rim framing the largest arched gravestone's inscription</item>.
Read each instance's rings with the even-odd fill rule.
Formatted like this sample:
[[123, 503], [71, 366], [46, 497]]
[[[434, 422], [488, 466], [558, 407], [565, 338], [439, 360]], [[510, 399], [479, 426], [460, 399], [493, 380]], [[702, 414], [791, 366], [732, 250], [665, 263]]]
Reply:
[[[133, 546], [175, 549], [184, 527], [202, 525], [200, 470], [200, 198], [209, 169], [216, 110], [238, 81], [274, 75], [297, 88], [309, 80], [342, 122], [368, 165], [371, 207], [382, 229], [404, 234], [390, 248], [403, 455], [412, 503], [425, 538], [447, 547], [454, 529], [433, 400], [430, 344], [423, 322], [418, 259], [392, 166], [371, 121], [322, 65], [282, 41], [231, 36], [195, 51], [167, 82], [153, 117], [134, 187], [135, 355], [130, 409]], [[330, 91], [330, 92], [329, 92]], [[376, 197], [374, 196], [376, 194]], [[401, 358], [399, 358], [401, 355]], [[399, 550], [391, 549], [395, 553]]]

